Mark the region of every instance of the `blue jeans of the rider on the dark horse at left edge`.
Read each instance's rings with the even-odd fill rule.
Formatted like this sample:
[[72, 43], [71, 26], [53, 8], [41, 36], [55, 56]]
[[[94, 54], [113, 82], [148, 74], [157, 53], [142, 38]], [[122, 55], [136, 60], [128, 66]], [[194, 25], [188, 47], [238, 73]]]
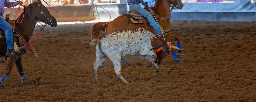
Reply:
[[12, 26], [0, 16], [0, 28], [5, 33], [6, 43], [9, 50], [14, 49], [13, 47], [13, 38], [12, 38]]

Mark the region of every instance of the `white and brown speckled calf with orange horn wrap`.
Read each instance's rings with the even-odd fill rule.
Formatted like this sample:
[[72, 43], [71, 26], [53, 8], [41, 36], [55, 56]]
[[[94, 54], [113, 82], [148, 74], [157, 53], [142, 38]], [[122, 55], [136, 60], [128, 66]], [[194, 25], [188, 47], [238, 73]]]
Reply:
[[91, 46], [94, 41], [98, 41], [96, 45], [96, 61], [92, 64], [95, 83], [99, 83], [97, 69], [103, 66], [106, 56], [113, 63], [117, 77], [124, 83], [128, 83], [120, 73], [121, 57], [138, 56], [146, 58], [150, 61], [150, 64], [145, 67], [154, 65], [156, 72], [161, 74], [155, 63], [156, 58], [159, 57], [156, 62], [161, 64], [164, 57], [170, 53], [171, 48], [182, 50], [171, 46], [170, 43], [167, 43], [167, 41], [161, 39], [150, 29], [146, 28], [129, 29], [100, 36], [92, 40]]

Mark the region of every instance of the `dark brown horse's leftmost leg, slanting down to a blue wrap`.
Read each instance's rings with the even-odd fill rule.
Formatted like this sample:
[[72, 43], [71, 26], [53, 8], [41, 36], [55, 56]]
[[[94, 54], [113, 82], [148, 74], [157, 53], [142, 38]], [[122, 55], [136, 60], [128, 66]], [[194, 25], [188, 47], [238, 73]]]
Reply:
[[13, 64], [16, 61], [17, 57], [18, 57], [17, 55], [15, 55], [15, 56], [10, 55], [5, 73], [4, 73], [3, 77], [0, 79], [0, 84], [2, 84], [6, 80], [8, 75], [10, 75], [10, 73], [12, 71]]

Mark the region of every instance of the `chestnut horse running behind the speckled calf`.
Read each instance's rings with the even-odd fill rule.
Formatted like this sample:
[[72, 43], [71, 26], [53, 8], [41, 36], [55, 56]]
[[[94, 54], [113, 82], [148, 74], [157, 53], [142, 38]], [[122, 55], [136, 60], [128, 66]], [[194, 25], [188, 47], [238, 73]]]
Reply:
[[[159, 17], [164, 17], [164, 16], [170, 17], [170, 4], [176, 5], [177, 9], [182, 9], [182, 7], [183, 7], [183, 4], [180, 0], [179, 1], [178, 0], [156, 0], [154, 7], [151, 7], [151, 8], [158, 14]], [[161, 20], [158, 22], [161, 26], [163, 26], [164, 29], [171, 29], [170, 21], [168, 19]], [[105, 23], [106, 22], [98, 22], [96, 24], [100, 25], [100, 24], [105, 24]], [[149, 29], [156, 32], [155, 29], [152, 26], [150, 26], [149, 23], [147, 25], [149, 25]], [[146, 26], [145, 26], [145, 24], [133, 24], [130, 22], [130, 20], [127, 16], [122, 15], [122, 16], [118, 16], [113, 21], [111, 21], [103, 26], [93, 26], [92, 31], [91, 31], [91, 38], [94, 39], [98, 36], [104, 36], [104, 35], [111, 34], [116, 31], [123, 31], [126, 29], [140, 28], [140, 27], [145, 28]], [[178, 42], [177, 47], [181, 49], [181, 46], [178, 45], [178, 44], [180, 44], [180, 39], [177, 36], [175, 36], [171, 33], [168, 33], [165, 36], [165, 39], [169, 42], [171, 42], [171, 39], [176, 40]], [[180, 60], [177, 57], [176, 53], [173, 50], [171, 52], [172, 52], [172, 56], [174, 57], [174, 60], [176, 62], [179, 62]], [[179, 51], [178, 55], [181, 58], [181, 51]], [[125, 62], [125, 61], [123, 61], [123, 59], [121, 61]]]

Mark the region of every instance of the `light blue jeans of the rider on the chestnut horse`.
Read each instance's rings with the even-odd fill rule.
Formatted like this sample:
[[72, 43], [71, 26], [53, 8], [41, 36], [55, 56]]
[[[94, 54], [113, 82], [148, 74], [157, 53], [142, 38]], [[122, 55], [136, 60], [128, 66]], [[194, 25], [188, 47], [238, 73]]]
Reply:
[[153, 28], [156, 30], [156, 32], [158, 34], [161, 33], [160, 28], [159, 28], [157, 22], [155, 21], [155, 19], [153, 18], [153, 16], [148, 11], [146, 11], [144, 8], [142, 8], [140, 6], [140, 4], [130, 5], [129, 10], [138, 11], [141, 15], [143, 15], [144, 17], [146, 17], [148, 19], [150, 25], [153, 26]]

